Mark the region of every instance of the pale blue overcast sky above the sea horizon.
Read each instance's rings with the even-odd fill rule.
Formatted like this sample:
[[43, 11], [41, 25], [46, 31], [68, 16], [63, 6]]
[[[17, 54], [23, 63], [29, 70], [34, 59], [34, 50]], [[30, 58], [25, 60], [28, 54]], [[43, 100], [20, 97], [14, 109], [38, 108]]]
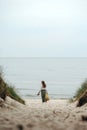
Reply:
[[87, 57], [87, 0], [0, 0], [0, 57]]

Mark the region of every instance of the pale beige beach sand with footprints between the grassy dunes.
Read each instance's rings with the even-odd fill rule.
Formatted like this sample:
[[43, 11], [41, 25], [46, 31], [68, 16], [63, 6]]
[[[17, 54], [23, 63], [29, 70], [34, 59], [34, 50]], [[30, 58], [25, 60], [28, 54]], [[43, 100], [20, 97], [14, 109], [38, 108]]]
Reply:
[[87, 104], [76, 107], [68, 100], [26, 99], [22, 105], [7, 97], [0, 103], [0, 130], [87, 130]]

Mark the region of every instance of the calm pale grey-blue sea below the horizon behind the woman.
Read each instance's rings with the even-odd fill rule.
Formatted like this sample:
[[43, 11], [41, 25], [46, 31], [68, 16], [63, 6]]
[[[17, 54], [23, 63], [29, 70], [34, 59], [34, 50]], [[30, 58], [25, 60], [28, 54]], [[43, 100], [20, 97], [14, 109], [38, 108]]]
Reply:
[[0, 58], [0, 66], [4, 79], [26, 98], [38, 98], [42, 80], [51, 98], [69, 98], [87, 78], [87, 58]]

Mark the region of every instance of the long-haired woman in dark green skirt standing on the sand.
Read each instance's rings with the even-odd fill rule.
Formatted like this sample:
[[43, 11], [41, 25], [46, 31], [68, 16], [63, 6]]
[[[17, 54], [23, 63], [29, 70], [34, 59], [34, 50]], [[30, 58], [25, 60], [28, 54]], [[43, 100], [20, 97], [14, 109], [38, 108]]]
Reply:
[[47, 100], [46, 100], [46, 98], [45, 98], [46, 93], [47, 93], [46, 83], [45, 83], [45, 81], [41, 81], [41, 84], [42, 84], [41, 90], [38, 92], [37, 95], [40, 95], [40, 92], [41, 92], [42, 102], [47, 102]]

